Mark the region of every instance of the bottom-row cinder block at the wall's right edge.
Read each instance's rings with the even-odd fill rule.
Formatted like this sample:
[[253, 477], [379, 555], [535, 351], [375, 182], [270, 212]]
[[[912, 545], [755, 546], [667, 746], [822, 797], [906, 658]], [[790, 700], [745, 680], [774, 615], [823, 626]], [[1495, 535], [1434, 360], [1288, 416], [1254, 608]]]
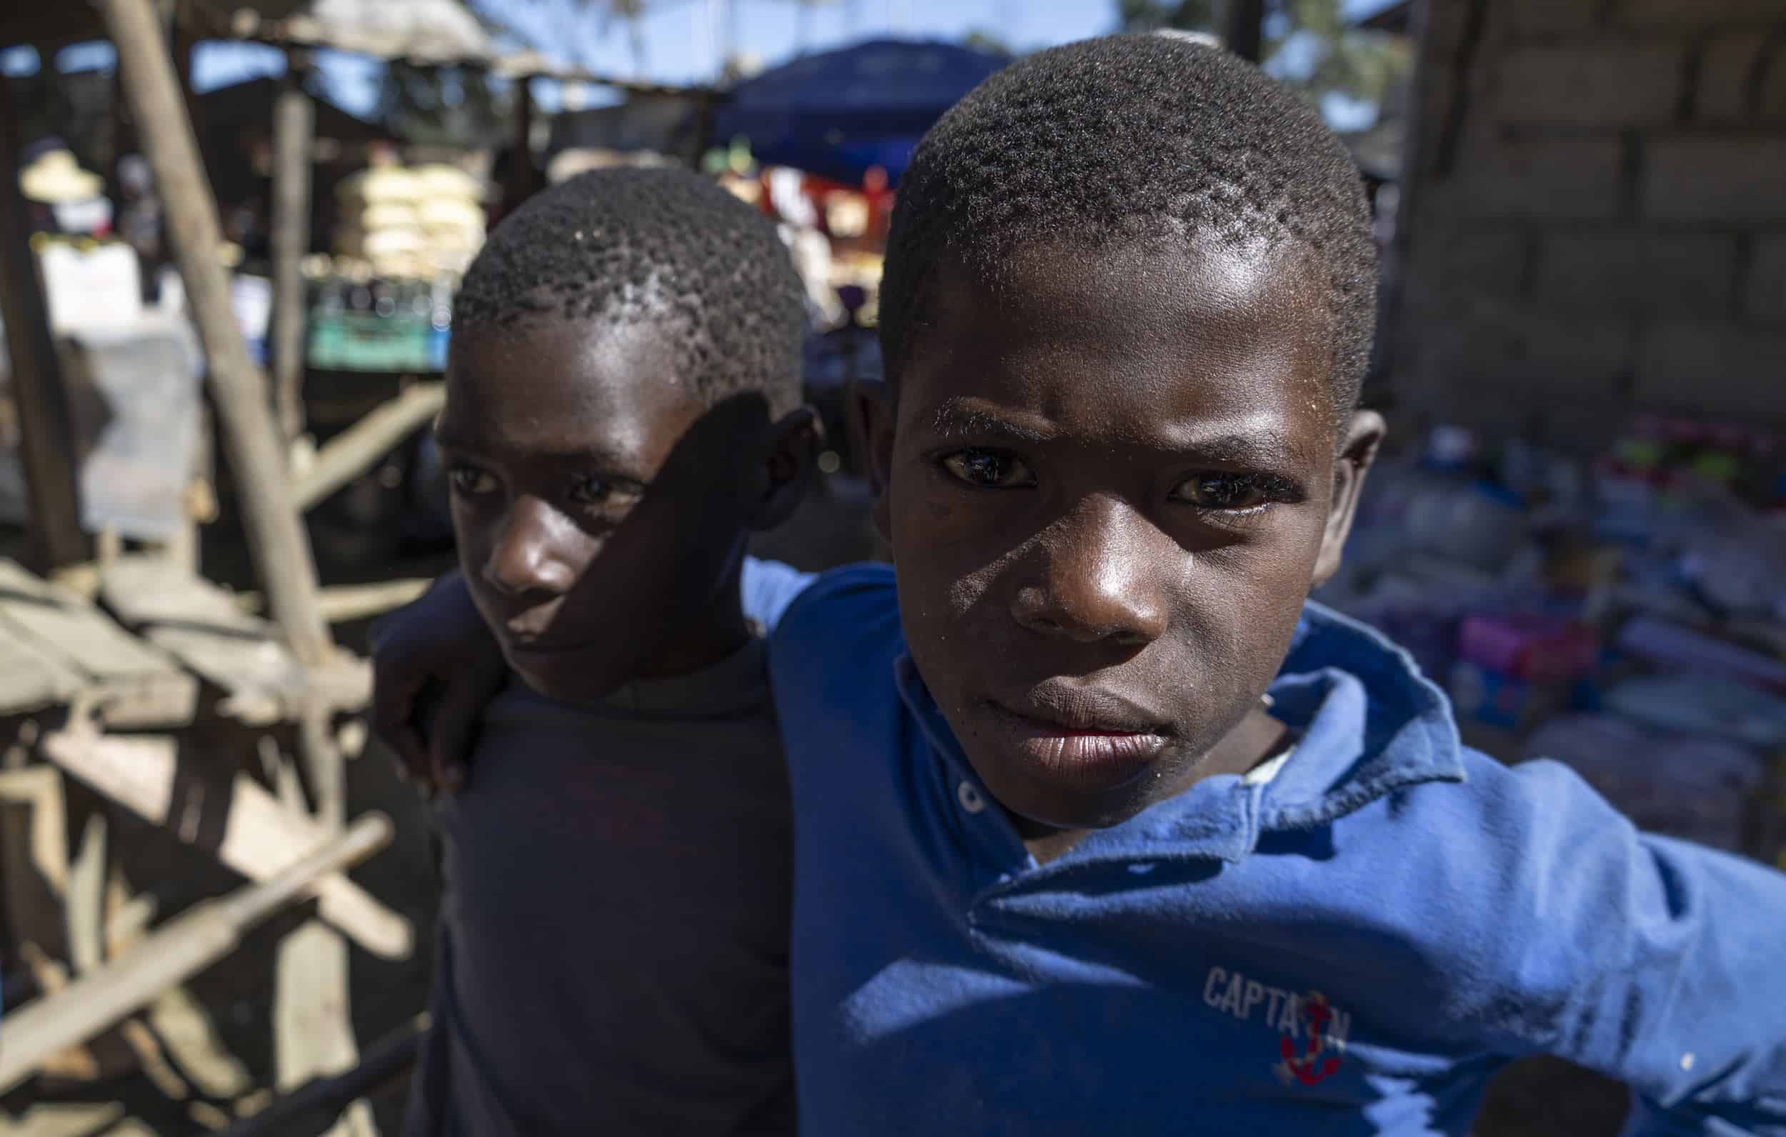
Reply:
[[1652, 407], [1786, 421], [1786, 330], [1652, 321], [1638, 353], [1636, 393]]

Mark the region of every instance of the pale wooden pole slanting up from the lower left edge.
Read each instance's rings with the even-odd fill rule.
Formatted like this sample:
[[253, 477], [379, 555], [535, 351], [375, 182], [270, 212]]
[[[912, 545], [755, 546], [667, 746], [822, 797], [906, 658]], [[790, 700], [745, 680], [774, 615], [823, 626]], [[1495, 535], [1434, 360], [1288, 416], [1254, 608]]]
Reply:
[[50, 1055], [86, 1042], [229, 955], [243, 932], [302, 900], [320, 876], [357, 864], [389, 844], [391, 832], [389, 817], [368, 814], [273, 880], [198, 903], [100, 971], [9, 1012], [5, 1050], [0, 1051], [0, 1094], [29, 1078]]

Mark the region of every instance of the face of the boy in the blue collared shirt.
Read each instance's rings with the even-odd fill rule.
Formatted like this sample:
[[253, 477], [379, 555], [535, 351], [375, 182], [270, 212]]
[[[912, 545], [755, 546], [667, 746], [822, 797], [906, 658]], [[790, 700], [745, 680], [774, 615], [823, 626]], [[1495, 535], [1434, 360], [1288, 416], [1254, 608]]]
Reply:
[[929, 311], [873, 428], [913, 659], [1006, 809], [1113, 825], [1257, 705], [1381, 419], [1336, 444], [1291, 246], [1031, 248]]

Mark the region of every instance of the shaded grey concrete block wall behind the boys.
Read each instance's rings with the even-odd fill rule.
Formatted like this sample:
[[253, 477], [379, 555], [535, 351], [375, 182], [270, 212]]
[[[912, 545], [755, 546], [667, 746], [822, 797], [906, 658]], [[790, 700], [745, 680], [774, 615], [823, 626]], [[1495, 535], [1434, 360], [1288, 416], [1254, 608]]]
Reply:
[[1390, 382], [1591, 448], [1786, 428], [1786, 0], [1427, 0]]

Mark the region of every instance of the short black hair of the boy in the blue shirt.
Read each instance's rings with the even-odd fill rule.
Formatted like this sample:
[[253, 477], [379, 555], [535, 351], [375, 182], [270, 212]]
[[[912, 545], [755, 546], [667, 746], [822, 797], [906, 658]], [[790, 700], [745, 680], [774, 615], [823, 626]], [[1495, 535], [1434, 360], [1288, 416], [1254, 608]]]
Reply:
[[880, 350], [897, 382], [945, 261], [997, 273], [1014, 250], [1164, 234], [1295, 239], [1327, 271], [1336, 416], [1357, 403], [1377, 246], [1357, 164], [1298, 95], [1181, 37], [1107, 36], [1020, 59], [923, 136], [900, 180]]

